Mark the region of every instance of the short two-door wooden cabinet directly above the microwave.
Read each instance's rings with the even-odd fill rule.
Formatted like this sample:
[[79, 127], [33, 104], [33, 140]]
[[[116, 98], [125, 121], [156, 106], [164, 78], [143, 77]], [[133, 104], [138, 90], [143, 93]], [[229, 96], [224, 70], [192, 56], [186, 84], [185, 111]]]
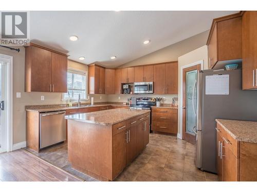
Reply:
[[154, 66], [135, 67], [135, 82], [153, 82]]

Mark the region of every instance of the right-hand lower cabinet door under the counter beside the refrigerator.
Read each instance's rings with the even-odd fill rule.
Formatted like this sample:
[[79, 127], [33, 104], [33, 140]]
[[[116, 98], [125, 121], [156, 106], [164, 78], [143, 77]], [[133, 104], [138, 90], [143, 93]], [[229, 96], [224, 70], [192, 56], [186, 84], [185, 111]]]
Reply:
[[238, 181], [238, 171], [239, 171], [239, 161], [233, 155], [230, 148], [228, 148], [226, 142], [224, 143], [224, 147], [222, 147], [223, 151], [223, 181]]

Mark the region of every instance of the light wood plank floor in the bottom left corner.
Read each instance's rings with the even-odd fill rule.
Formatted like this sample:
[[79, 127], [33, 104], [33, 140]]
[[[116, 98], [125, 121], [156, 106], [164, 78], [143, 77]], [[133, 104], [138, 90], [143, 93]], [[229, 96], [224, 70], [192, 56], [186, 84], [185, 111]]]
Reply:
[[1, 181], [83, 181], [26, 150], [0, 154]]

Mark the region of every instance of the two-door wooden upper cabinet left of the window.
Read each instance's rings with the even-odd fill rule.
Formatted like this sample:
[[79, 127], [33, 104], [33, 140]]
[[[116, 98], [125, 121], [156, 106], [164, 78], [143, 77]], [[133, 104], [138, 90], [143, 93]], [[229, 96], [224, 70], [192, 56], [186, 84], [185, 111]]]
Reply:
[[67, 92], [67, 56], [31, 44], [25, 48], [25, 92]]

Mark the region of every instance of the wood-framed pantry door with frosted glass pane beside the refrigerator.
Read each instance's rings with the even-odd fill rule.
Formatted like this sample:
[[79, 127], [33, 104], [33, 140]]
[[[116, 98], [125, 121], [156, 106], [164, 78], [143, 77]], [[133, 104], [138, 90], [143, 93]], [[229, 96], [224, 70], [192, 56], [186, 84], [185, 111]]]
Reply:
[[183, 135], [182, 138], [195, 143], [197, 121], [197, 71], [200, 65], [183, 69]]

